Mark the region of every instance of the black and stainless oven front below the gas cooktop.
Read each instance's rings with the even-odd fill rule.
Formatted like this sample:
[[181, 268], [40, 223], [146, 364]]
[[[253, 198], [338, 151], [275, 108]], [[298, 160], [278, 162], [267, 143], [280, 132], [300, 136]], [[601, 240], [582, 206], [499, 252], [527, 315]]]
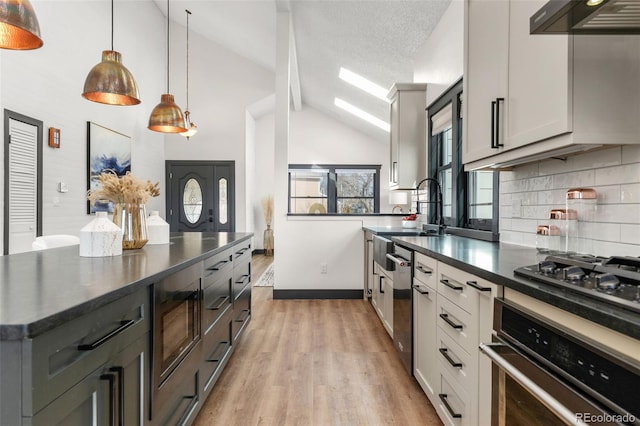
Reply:
[[496, 299], [495, 425], [640, 424], [640, 368], [537, 313]]

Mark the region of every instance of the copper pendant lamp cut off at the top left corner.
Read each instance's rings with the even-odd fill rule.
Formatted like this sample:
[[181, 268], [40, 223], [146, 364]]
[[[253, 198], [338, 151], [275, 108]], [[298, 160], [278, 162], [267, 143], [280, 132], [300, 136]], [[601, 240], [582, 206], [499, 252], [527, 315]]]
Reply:
[[0, 48], [31, 50], [42, 47], [40, 24], [29, 0], [0, 1]]

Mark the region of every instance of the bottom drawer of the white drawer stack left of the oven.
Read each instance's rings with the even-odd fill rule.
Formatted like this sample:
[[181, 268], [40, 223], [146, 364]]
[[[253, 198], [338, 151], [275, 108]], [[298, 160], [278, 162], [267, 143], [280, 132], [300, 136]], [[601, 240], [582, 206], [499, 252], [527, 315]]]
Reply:
[[[436, 410], [445, 425], [475, 426], [477, 416], [469, 394], [446, 372], [440, 372]], [[473, 390], [471, 390], [473, 391]]]

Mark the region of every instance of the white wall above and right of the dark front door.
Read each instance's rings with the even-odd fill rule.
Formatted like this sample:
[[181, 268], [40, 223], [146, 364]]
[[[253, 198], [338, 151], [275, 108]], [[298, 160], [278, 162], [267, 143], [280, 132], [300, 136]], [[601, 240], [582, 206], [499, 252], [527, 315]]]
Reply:
[[[179, 52], [179, 56], [172, 54], [175, 62], [171, 67], [171, 90], [176, 103], [182, 106], [186, 105], [186, 28], [173, 25], [171, 40], [172, 51]], [[274, 74], [193, 31], [189, 50], [189, 109], [198, 134], [189, 141], [179, 135], [167, 135], [166, 159], [235, 161], [236, 230], [252, 231], [254, 220], [247, 201], [253, 200], [249, 188], [253, 178], [246, 165], [252, 164], [253, 153], [249, 151], [254, 137], [246, 133], [247, 123], [251, 126], [247, 108], [273, 93]], [[155, 102], [159, 101], [158, 93]]]

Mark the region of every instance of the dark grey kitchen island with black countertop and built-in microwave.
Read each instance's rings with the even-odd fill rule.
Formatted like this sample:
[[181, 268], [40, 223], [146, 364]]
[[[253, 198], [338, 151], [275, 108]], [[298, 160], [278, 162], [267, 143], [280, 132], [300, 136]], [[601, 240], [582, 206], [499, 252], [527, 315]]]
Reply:
[[0, 258], [0, 424], [189, 424], [250, 320], [252, 236]]

